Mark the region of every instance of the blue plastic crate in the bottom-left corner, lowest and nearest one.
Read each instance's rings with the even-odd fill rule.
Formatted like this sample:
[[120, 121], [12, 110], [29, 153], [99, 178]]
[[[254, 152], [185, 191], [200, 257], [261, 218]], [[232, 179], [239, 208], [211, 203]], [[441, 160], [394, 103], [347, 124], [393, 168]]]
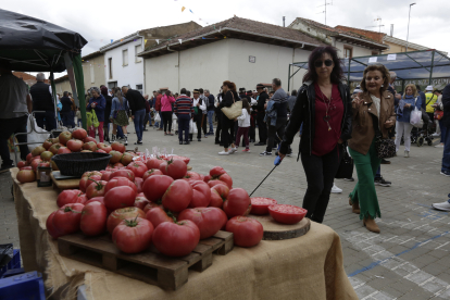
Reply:
[[2, 300], [45, 300], [42, 276], [36, 271], [0, 279]]

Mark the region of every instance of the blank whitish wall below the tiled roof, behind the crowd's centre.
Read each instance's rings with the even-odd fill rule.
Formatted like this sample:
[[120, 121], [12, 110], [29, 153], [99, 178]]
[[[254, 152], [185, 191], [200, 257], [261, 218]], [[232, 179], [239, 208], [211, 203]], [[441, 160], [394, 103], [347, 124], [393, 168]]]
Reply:
[[[287, 47], [224, 39], [182, 51], [179, 68], [176, 67], [178, 52], [146, 59], [146, 87], [148, 92], [162, 87], [176, 92], [185, 87], [188, 90], [210, 89], [216, 93], [224, 80], [236, 83], [238, 88], [255, 89], [257, 84], [271, 84], [278, 77], [287, 90], [289, 63], [307, 61], [311, 53], [296, 49], [292, 57], [292, 52]], [[250, 55], [255, 57], [255, 63], [249, 62]], [[303, 74], [302, 71], [297, 73], [290, 89], [300, 87]]]

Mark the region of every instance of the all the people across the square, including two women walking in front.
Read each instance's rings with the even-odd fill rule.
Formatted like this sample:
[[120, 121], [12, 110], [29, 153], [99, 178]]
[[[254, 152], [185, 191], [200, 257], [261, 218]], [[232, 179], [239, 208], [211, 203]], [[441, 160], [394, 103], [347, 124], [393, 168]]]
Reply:
[[[334, 182], [348, 151], [358, 174], [349, 204], [368, 230], [379, 233], [375, 218], [382, 212], [375, 186], [391, 185], [380, 173], [380, 164], [390, 162], [380, 157], [397, 155], [403, 142], [403, 157], [410, 158], [412, 140], [440, 136], [436, 146], [443, 148], [440, 174], [450, 176], [450, 85], [443, 90], [427, 86], [423, 92], [410, 84], [404, 91], [397, 92], [396, 73], [375, 63], [364, 70], [360, 86], [350, 93], [333, 47], [316, 48], [309, 65], [301, 88], [291, 95], [283, 89], [279, 78], [274, 78], [271, 87], [259, 84], [254, 90], [237, 89], [235, 83], [225, 80], [216, 96], [202, 88], [182, 88], [179, 95], [158, 90], [149, 97], [126, 86], [92, 87], [86, 95], [89, 135], [98, 136], [100, 142], [121, 140], [127, 145], [132, 118], [137, 135], [135, 145], [142, 145], [143, 132], [149, 126], [165, 136], [175, 133], [179, 145], [189, 145], [195, 135], [198, 142], [214, 137], [215, 145], [223, 148], [220, 155], [234, 154], [240, 146], [248, 153], [253, 143], [262, 146], [258, 151], [261, 157], [271, 157], [275, 151], [282, 160], [292, 154], [291, 143], [300, 135], [298, 159], [308, 182], [303, 198], [307, 216], [323, 222], [330, 192], [341, 191]], [[52, 90], [43, 83], [43, 74], [37, 75], [37, 84], [28, 92], [24, 82], [12, 75], [8, 63], [1, 64], [0, 73], [0, 92], [7, 99], [0, 110], [1, 171], [5, 171], [13, 166], [7, 139], [13, 133], [26, 132], [26, 113], [35, 112], [38, 126], [47, 130], [57, 128], [57, 118]], [[58, 120], [64, 126], [74, 127], [75, 117], [79, 125], [79, 108], [70, 92], [59, 97], [57, 107]], [[413, 114], [420, 115], [420, 122], [413, 122]], [[17, 139], [26, 142], [26, 136]], [[393, 153], [380, 155], [388, 151], [380, 145], [389, 148], [390, 143]], [[21, 158], [25, 159], [27, 153], [28, 149], [21, 146]], [[354, 182], [352, 177], [346, 179]], [[450, 211], [450, 200], [434, 207]]]

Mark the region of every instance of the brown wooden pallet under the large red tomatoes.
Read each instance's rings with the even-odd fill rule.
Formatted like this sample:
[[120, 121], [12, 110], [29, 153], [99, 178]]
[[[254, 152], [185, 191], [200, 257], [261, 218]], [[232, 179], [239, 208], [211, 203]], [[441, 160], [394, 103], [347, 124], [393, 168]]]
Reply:
[[202, 272], [212, 265], [212, 254], [225, 255], [233, 250], [233, 234], [218, 232], [213, 237], [200, 240], [197, 248], [183, 258], [170, 258], [154, 247], [137, 253], [121, 252], [108, 235], [86, 237], [83, 234], [63, 236], [58, 239], [60, 255], [176, 290], [188, 280], [188, 270]]

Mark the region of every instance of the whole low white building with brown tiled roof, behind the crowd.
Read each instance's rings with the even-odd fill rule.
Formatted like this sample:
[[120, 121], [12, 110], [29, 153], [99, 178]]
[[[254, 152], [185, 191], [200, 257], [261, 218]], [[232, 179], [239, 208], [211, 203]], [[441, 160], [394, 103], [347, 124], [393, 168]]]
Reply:
[[[250, 27], [254, 32], [246, 30]], [[280, 78], [288, 90], [289, 64], [308, 60], [313, 49], [323, 46], [297, 30], [239, 17], [179, 38], [182, 43], [167, 42], [140, 54], [148, 90], [203, 88], [216, 95], [224, 80], [253, 90], [258, 84], [270, 87], [273, 78]], [[290, 90], [301, 82], [299, 72], [290, 79]]]

